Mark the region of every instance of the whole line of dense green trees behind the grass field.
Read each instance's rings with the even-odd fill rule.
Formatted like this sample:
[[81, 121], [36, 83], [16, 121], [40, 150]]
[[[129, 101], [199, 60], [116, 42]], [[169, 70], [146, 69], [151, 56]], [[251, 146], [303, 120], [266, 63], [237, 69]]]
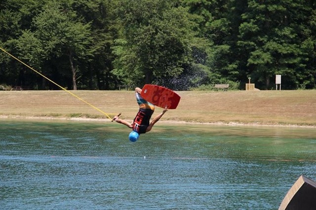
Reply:
[[[1, 0], [0, 31], [68, 90], [316, 88], [314, 0]], [[1, 84], [59, 89], [3, 52]]]

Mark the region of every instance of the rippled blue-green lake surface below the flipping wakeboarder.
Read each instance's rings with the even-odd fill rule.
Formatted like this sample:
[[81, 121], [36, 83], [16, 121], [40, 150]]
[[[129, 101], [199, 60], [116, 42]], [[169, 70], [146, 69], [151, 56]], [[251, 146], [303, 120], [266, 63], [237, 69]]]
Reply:
[[316, 180], [316, 129], [0, 120], [0, 209], [276, 210]]

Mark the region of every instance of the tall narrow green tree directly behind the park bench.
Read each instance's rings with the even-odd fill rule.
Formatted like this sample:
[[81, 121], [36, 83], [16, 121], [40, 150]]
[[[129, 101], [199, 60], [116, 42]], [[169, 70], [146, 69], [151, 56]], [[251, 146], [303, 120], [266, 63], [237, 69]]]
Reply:
[[243, 74], [240, 65], [245, 58], [237, 53], [236, 43], [246, 0], [210, 0], [209, 3], [211, 18], [206, 22], [206, 31], [214, 44], [210, 48], [208, 65], [213, 71], [214, 82], [238, 82]]

